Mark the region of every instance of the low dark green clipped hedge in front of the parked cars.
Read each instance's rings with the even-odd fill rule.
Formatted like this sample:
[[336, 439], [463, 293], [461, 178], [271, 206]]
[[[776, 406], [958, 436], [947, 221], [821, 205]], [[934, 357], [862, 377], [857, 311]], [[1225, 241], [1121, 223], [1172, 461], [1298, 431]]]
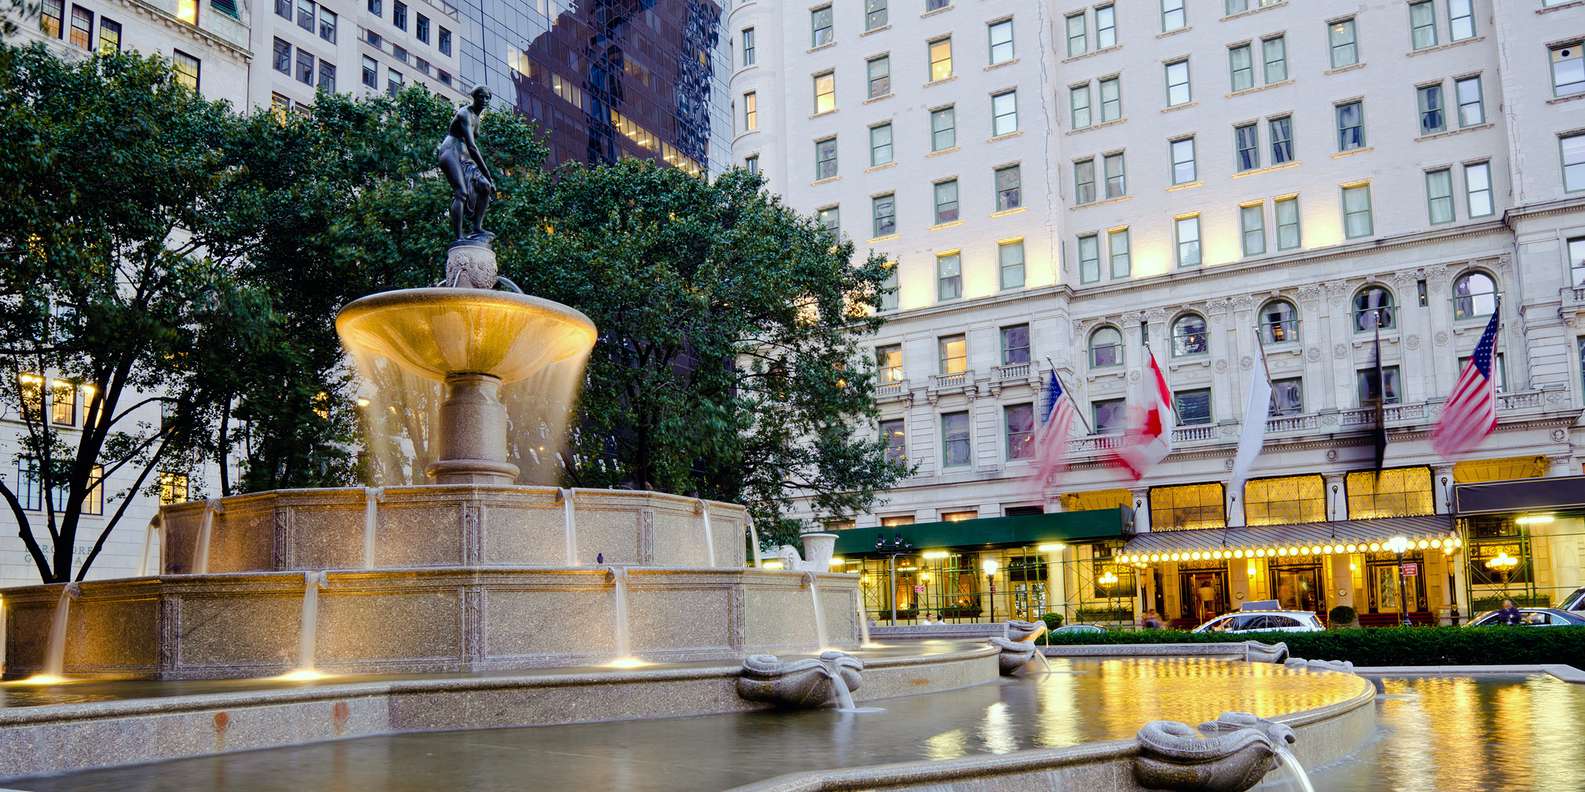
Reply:
[[1184, 630], [1059, 634], [1051, 645], [1217, 643], [1257, 640], [1287, 643], [1289, 654], [1355, 665], [1533, 665], [1585, 668], [1585, 627], [1371, 627], [1327, 632], [1252, 632], [1239, 635]]

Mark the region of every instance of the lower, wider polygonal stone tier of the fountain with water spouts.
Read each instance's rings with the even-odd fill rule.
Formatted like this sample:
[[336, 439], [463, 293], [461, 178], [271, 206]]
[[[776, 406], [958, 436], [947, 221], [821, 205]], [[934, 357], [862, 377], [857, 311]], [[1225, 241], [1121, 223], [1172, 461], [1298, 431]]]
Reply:
[[[815, 649], [807, 575], [629, 569], [629, 653], [655, 662]], [[319, 577], [319, 575], [314, 575]], [[602, 664], [617, 656], [605, 569], [439, 567], [323, 573], [315, 667], [327, 673], [463, 673]], [[233, 680], [298, 664], [298, 572], [86, 581], [70, 602], [68, 676]], [[856, 575], [816, 575], [827, 643], [859, 645]], [[44, 665], [60, 584], [0, 591], [5, 676]]]

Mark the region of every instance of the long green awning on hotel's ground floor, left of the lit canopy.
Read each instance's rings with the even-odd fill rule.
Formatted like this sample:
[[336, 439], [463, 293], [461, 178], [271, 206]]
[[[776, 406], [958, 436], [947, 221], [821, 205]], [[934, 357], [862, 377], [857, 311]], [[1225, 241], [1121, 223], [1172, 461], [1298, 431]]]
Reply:
[[1133, 510], [1127, 507], [1046, 515], [986, 516], [959, 523], [915, 523], [891, 527], [853, 527], [837, 532], [838, 556], [875, 551], [875, 540], [902, 537], [915, 550], [981, 548], [986, 545], [1041, 545], [1048, 542], [1102, 542], [1124, 539], [1133, 531]]

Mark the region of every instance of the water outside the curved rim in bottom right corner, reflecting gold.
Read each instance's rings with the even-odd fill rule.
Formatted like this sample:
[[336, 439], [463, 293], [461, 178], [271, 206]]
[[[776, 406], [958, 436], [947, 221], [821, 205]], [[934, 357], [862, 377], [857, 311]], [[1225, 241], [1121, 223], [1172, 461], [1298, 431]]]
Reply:
[[1585, 684], [1428, 676], [1384, 687], [1377, 740], [1312, 770], [1317, 792], [1585, 790]]

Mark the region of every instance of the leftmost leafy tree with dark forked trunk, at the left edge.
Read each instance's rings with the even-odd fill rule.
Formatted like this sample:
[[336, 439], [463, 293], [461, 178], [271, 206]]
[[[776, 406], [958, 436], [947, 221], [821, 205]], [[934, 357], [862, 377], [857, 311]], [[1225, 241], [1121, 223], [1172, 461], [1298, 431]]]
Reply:
[[[203, 453], [217, 355], [249, 348], [268, 314], [208, 253], [231, 124], [158, 59], [0, 44], [0, 409], [24, 426], [0, 497], [44, 581], [71, 580], [87, 508], [108, 516], [78, 580], [128, 496]], [[106, 493], [124, 472], [133, 483]]]

